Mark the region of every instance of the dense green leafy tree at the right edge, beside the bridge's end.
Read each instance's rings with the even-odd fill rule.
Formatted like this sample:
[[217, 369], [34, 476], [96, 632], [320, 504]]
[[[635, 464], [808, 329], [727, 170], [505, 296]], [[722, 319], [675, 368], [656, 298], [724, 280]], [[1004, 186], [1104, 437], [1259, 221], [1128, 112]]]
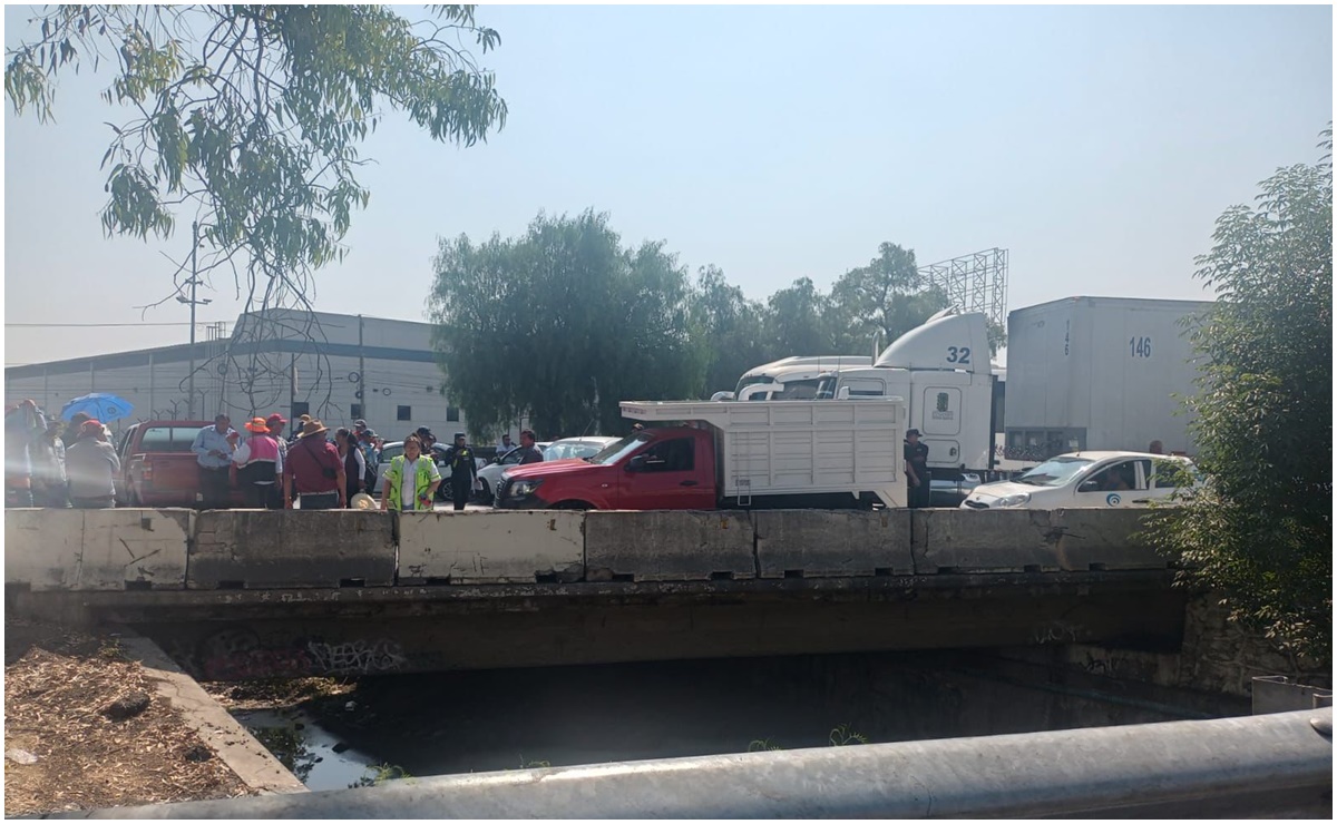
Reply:
[[[1332, 151], [1332, 128], [1325, 132]], [[1186, 401], [1206, 485], [1152, 513], [1148, 538], [1187, 581], [1280, 648], [1332, 660], [1332, 163], [1281, 168], [1218, 220], [1197, 276], [1217, 292], [1190, 331]]]

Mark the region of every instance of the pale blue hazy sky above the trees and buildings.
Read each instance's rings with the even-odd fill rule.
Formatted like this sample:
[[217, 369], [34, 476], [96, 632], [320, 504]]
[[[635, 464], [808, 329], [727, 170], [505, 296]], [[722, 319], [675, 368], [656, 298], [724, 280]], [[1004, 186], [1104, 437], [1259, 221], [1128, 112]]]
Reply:
[[[404, 7], [417, 16], [418, 7]], [[16, 44], [31, 7], [7, 7]], [[422, 321], [437, 239], [607, 211], [753, 298], [822, 288], [892, 240], [931, 263], [1011, 250], [1008, 306], [1202, 298], [1213, 222], [1333, 111], [1330, 7], [483, 7], [509, 104], [485, 146], [398, 115], [364, 147], [372, 190], [317, 308]], [[87, 68], [87, 67], [86, 67]], [[62, 77], [59, 123], [5, 104], [5, 363], [185, 342], [140, 322], [160, 250], [102, 234], [107, 75]], [[201, 321], [239, 304], [215, 282]], [[175, 302], [148, 323], [189, 318]]]

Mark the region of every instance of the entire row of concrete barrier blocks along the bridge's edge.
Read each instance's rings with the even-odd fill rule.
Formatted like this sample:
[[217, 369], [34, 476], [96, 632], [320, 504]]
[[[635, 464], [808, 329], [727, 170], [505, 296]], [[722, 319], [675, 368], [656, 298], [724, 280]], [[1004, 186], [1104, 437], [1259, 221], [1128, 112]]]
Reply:
[[11, 509], [5, 581], [278, 589], [1166, 569], [1136, 537], [1144, 514]]

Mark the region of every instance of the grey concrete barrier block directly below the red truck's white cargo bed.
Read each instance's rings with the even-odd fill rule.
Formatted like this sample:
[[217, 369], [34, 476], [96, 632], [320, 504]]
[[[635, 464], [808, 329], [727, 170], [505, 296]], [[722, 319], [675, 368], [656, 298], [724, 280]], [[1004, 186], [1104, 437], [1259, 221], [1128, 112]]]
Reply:
[[757, 564], [763, 578], [912, 574], [910, 510], [761, 510]]

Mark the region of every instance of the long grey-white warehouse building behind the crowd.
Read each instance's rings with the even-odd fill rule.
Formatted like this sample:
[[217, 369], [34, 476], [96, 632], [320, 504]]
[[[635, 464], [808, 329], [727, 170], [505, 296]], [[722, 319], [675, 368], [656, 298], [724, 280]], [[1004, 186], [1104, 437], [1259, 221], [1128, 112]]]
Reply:
[[465, 430], [464, 413], [443, 393], [429, 323], [266, 310], [242, 314], [230, 333], [223, 323], [205, 331], [194, 350], [186, 343], [5, 369], [5, 398], [32, 398], [55, 413], [71, 398], [114, 393], [134, 405], [114, 430], [219, 411], [238, 429], [274, 411], [310, 414], [332, 430], [365, 418], [386, 441], [418, 426], [445, 442]]

